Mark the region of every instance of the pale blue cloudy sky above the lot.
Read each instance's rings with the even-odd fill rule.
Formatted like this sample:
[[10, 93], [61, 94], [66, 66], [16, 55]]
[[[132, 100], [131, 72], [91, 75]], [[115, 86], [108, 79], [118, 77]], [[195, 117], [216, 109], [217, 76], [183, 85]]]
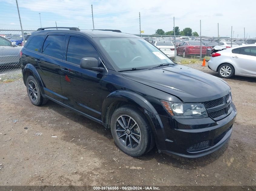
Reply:
[[[141, 30], [154, 34], [155, 30], [165, 32], [175, 26], [180, 30], [190, 27], [192, 31], [209, 37], [234, 38], [256, 37], [254, 0], [18, 0], [23, 30], [40, 27], [79, 27], [92, 29], [91, 4], [95, 29], [119, 29], [125, 33], [139, 34], [139, 12]], [[1, 29], [20, 29], [15, 0], [0, 0]]]

